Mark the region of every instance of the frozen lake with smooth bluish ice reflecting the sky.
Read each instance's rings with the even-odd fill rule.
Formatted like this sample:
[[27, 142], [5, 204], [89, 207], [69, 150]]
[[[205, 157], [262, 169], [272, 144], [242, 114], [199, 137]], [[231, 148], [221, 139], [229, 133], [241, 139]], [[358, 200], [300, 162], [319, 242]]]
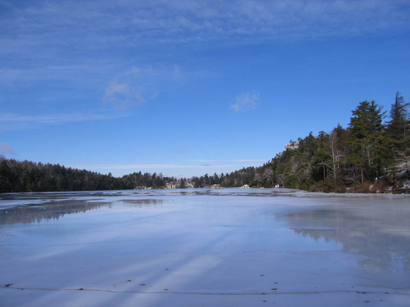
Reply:
[[0, 265], [2, 306], [409, 306], [410, 197], [0, 194]]

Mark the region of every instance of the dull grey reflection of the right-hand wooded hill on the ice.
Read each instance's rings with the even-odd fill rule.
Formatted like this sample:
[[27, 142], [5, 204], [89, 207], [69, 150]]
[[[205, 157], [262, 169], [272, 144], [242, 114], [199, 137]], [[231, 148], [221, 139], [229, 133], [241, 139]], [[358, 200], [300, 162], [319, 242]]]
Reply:
[[410, 272], [410, 210], [407, 203], [350, 201], [286, 216], [295, 233], [335, 240], [361, 255], [358, 265], [373, 273]]

